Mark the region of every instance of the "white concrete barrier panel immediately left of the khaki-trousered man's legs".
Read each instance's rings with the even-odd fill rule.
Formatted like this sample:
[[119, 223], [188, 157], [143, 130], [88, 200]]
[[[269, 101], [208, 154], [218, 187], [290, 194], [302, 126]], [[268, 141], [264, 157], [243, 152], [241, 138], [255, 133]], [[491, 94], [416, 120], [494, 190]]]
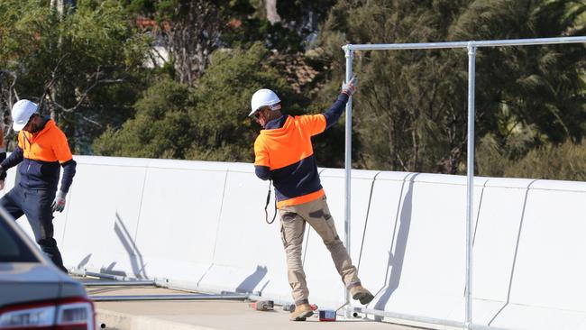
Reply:
[[[252, 164], [231, 164], [226, 178], [213, 266], [199, 282], [202, 288], [291, 300], [287, 264], [280, 239], [279, 215], [265, 222], [269, 181], [258, 179]], [[271, 193], [269, 215], [274, 214]], [[270, 220], [270, 219], [269, 219]]]

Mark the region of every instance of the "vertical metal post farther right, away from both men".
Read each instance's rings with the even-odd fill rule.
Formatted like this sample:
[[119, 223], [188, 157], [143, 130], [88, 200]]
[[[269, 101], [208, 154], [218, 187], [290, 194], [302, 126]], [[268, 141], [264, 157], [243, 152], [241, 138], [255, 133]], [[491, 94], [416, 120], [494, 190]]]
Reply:
[[476, 46], [468, 43], [468, 164], [466, 184], [466, 321], [472, 328], [472, 221], [474, 194], [474, 82], [476, 76]]

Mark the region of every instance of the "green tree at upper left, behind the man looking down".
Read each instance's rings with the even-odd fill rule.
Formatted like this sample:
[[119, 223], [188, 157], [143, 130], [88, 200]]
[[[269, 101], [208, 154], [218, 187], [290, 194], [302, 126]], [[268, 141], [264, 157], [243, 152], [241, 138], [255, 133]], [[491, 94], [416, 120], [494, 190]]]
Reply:
[[81, 0], [66, 13], [50, 1], [0, 3], [0, 106], [7, 118], [17, 97], [38, 102], [74, 151], [89, 152], [106, 122], [132, 115], [148, 43], [118, 1]]

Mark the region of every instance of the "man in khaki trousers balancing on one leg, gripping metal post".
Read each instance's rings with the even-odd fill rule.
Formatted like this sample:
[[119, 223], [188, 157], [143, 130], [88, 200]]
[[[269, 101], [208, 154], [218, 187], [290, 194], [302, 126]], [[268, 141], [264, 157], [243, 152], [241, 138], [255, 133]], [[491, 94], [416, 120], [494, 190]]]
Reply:
[[311, 144], [313, 135], [324, 132], [343, 114], [355, 85], [355, 78], [343, 84], [334, 105], [319, 115], [283, 115], [279, 96], [270, 89], [260, 89], [252, 96], [249, 116], [264, 128], [254, 142], [254, 167], [256, 175], [264, 180], [271, 179], [275, 188], [281, 238], [287, 254], [288, 282], [296, 305], [290, 317], [293, 321], [305, 321], [313, 315], [301, 261], [306, 223], [322, 237], [353, 299], [365, 305], [374, 298], [362, 287], [356, 267], [336, 233]]

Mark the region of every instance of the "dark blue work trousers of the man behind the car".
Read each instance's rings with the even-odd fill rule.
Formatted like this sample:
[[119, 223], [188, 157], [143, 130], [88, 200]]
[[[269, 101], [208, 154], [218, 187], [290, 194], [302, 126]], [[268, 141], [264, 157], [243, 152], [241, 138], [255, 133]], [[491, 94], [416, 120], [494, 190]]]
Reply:
[[41, 251], [45, 252], [60, 270], [67, 272], [57, 242], [53, 238], [53, 211], [50, 205], [55, 193], [54, 190], [27, 189], [16, 184], [0, 198], [0, 206], [13, 215], [14, 219], [26, 215], [34, 240], [41, 246]]

